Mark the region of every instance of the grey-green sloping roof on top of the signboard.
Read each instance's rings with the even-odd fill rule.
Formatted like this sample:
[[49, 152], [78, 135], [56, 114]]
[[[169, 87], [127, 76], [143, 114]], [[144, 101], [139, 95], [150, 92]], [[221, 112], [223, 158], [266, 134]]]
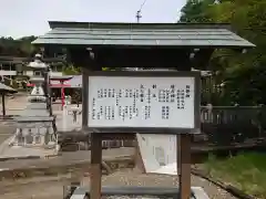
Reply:
[[253, 48], [227, 25], [183, 23], [50, 22], [33, 44], [115, 46]]

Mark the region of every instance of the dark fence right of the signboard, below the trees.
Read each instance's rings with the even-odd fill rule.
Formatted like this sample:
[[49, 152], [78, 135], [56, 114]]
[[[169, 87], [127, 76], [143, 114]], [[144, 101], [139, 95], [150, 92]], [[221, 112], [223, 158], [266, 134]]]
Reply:
[[202, 133], [211, 144], [243, 143], [265, 137], [264, 106], [203, 106]]

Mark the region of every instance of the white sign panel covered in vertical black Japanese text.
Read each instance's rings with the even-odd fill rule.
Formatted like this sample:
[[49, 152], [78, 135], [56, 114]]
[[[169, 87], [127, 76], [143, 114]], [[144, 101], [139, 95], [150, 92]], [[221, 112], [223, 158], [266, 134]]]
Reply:
[[194, 77], [90, 76], [89, 127], [194, 128]]

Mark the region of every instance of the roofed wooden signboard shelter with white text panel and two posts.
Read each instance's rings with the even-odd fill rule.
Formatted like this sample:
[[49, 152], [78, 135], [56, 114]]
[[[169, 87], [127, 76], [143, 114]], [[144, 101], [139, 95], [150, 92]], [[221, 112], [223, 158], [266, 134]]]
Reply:
[[[139, 133], [146, 133], [149, 130], [153, 134], [174, 133], [178, 135], [180, 145], [177, 150], [177, 165], [180, 168], [180, 198], [191, 198], [191, 135], [195, 133], [195, 130], [200, 130], [200, 83], [197, 78], [193, 78], [195, 80], [194, 84], [191, 84], [191, 86], [194, 86], [193, 102], [195, 104], [192, 104], [192, 102], [187, 100], [187, 107], [191, 107], [191, 109], [188, 108], [190, 111], [187, 111], [186, 119], [182, 121], [180, 118], [180, 122], [176, 121], [178, 126], [172, 126], [171, 128], [165, 127], [167, 122], [162, 122], [162, 118], [156, 118], [157, 114], [162, 114], [164, 115], [163, 117], [167, 117], [167, 114], [165, 114], [167, 113], [167, 108], [166, 111], [164, 109], [164, 112], [162, 111], [156, 113], [156, 106], [154, 105], [156, 104], [155, 102], [153, 102], [154, 104], [151, 105], [151, 107], [147, 107], [147, 109], [151, 108], [151, 119], [153, 122], [157, 122], [157, 126], [151, 123], [144, 125], [141, 119], [137, 121], [140, 117], [136, 115], [132, 116], [132, 119], [124, 118], [124, 115], [131, 112], [125, 112], [124, 107], [122, 108], [123, 111], [121, 111], [123, 113], [120, 113], [120, 117], [110, 119], [111, 122], [103, 119], [104, 124], [98, 123], [102, 117], [112, 117], [112, 107], [108, 107], [105, 111], [103, 111], [109, 113], [111, 112], [108, 116], [100, 115], [99, 119], [96, 118], [93, 121], [92, 117], [98, 117], [98, 115], [96, 113], [93, 115], [93, 102], [90, 102], [93, 101], [93, 97], [90, 98], [90, 94], [93, 96], [98, 95], [98, 93], [95, 93], [95, 88], [100, 88], [99, 97], [102, 97], [102, 95], [103, 97], [104, 95], [109, 95], [106, 92], [101, 94], [101, 88], [104, 87], [98, 87], [95, 85], [95, 82], [103, 84], [105, 78], [110, 78], [110, 86], [106, 85], [106, 80], [104, 83], [104, 85], [109, 86], [108, 88], [123, 88], [122, 84], [124, 84], [125, 81], [120, 80], [121, 82], [119, 84], [119, 78], [123, 77], [124, 75], [127, 75], [129, 81], [132, 82], [144, 75], [146, 76], [147, 82], [143, 81], [142, 78], [140, 83], [143, 81], [146, 86], [152, 82], [154, 83], [154, 76], [157, 76], [157, 78], [164, 77], [161, 84], [157, 82], [157, 85], [162, 86], [164, 90], [166, 86], [168, 86], [168, 84], [176, 84], [176, 82], [173, 80], [167, 82], [167, 80], [171, 77], [175, 77], [177, 82], [181, 74], [185, 74], [184, 78], [190, 77], [191, 74], [193, 74], [191, 73], [192, 67], [196, 70], [206, 70], [208, 66], [208, 60], [215, 49], [243, 50], [253, 48], [254, 44], [234, 34], [226, 24], [86, 23], [58, 21], [49, 23], [52, 30], [43, 36], [37, 39], [33, 44], [44, 46], [45, 52], [51, 52], [51, 49], [55, 45], [66, 48], [72, 63], [74, 63], [74, 65], [82, 66], [83, 132], [91, 133], [92, 143], [90, 187], [91, 198], [99, 199], [101, 197], [102, 139], [106, 137], [121, 138], [132, 136], [132, 130]], [[47, 55], [49, 56], [49, 54]], [[176, 69], [181, 73], [99, 72], [102, 67], [137, 66], [172, 67]], [[104, 80], [99, 78], [100, 76], [102, 76]], [[139, 83], [135, 82], [135, 85]], [[130, 85], [124, 86], [124, 88], [130, 87]], [[136, 87], [133, 86], [131, 88], [134, 90]], [[110, 95], [112, 96], [112, 92]], [[101, 104], [101, 101], [98, 101], [98, 103]], [[117, 104], [120, 104], [120, 102]], [[122, 106], [126, 106], [126, 101], [124, 103], [122, 102], [121, 104]], [[140, 103], [135, 103], [134, 107], [140, 107]], [[101, 111], [101, 107], [95, 107], [95, 109]], [[173, 112], [171, 113], [173, 114]], [[175, 109], [175, 113], [185, 112]], [[192, 115], [192, 113], [194, 113], [194, 115]], [[144, 117], [145, 115], [149, 114], [144, 114]], [[122, 123], [121, 119], [127, 121]], [[172, 117], [168, 116], [168, 119], [166, 121], [171, 122], [171, 119]], [[173, 122], [168, 123], [168, 125], [173, 125]]]

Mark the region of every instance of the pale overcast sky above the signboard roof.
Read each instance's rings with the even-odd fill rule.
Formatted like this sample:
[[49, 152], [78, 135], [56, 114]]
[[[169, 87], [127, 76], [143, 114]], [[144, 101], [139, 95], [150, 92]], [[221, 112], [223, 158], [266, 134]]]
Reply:
[[[136, 22], [144, 0], [1, 0], [0, 36], [42, 35], [48, 21]], [[146, 0], [141, 22], [176, 22], [186, 0]]]

